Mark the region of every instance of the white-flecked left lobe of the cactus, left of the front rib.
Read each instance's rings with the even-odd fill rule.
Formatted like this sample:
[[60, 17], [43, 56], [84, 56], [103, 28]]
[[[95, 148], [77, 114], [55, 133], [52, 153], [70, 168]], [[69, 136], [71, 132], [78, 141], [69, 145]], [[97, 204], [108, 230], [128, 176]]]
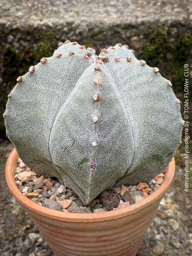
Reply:
[[23, 76], [22, 86], [18, 84], [11, 91], [6, 109], [7, 133], [19, 156], [37, 174], [62, 181], [49, 152], [49, 136], [59, 109], [90, 64], [77, 54], [50, 57], [47, 64], [35, 66], [33, 75]]

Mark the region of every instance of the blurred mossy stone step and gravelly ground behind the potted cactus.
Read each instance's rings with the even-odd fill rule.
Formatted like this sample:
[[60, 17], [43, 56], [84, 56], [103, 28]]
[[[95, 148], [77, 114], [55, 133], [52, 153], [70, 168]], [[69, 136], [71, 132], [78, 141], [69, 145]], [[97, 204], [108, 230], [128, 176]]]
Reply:
[[[191, 0], [0, 0], [1, 117], [16, 78], [67, 39], [94, 47], [97, 54], [118, 42], [127, 44], [139, 60], [158, 67], [172, 82], [184, 116], [184, 64], [189, 68], [189, 99], [192, 91]], [[191, 110], [192, 102], [188, 121]], [[4, 168], [12, 148], [0, 118], [0, 255], [52, 256], [6, 185]], [[173, 184], [137, 256], [192, 255], [192, 189], [184, 191], [184, 152], [183, 142], [176, 153]], [[191, 156], [189, 160], [192, 171]], [[192, 181], [189, 185], [192, 188]]]

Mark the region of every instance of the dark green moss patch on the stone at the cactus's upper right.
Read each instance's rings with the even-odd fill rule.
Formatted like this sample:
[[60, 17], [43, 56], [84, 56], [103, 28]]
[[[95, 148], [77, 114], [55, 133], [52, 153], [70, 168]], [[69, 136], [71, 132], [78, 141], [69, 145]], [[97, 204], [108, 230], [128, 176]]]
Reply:
[[[181, 84], [184, 83], [184, 64], [187, 63], [192, 45], [190, 33], [176, 33], [172, 35], [172, 28], [166, 26], [152, 28], [145, 33], [147, 45], [142, 49], [143, 56], [151, 66], [166, 65], [162, 73], [169, 78], [178, 91], [182, 91]], [[174, 38], [174, 41], [173, 41]], [[163, 60], [163, 62], [162, 62]], [[161, 69], [160, 69], [161, 70]]]

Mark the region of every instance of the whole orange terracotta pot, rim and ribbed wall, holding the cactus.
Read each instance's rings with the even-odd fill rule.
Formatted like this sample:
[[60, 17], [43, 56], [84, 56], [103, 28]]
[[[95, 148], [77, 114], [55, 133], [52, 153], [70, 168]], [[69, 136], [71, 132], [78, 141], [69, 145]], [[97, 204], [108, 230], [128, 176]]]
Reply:
[[6, 165], [12, 195], [28, 212], [55, 256], [134, 256], [174, 176], [174, 158], [161, 186], [142, 201], [120, 210], [76, 214], [52, 210], [34, 203], [16, 186], [14, 173], [18, 155], [14, 149]]

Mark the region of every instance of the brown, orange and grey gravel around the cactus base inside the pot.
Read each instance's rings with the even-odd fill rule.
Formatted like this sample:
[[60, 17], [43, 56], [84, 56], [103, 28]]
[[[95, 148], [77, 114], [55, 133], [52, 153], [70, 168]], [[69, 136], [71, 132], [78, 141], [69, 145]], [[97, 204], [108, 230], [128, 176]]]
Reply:
[[15, 180], [23, 195], [41, 206], [74, 213], [113, 211], [137, 203], [159, 188], [166, 172], [158, 174], [148, 184], [140, 182], [134, 186], [121, 185], [107, 189], [86, 207], [73, 190], [55, 178], [37, 176], [21, 159], [17, 159], [17, 163]]

